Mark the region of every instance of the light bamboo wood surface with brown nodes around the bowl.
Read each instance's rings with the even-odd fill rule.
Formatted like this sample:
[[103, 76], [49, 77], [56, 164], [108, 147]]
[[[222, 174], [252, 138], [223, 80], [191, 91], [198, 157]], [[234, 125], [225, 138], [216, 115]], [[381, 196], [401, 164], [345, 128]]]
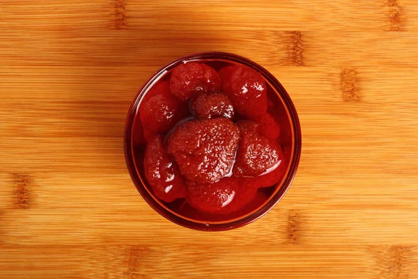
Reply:
[[[185, 54], [268, 68], [302, 125], [260, 220], [184, 229], [144, 202], [123, 128]], [[0, 0], [0, 278], [418, 278], [418, 1]]]

